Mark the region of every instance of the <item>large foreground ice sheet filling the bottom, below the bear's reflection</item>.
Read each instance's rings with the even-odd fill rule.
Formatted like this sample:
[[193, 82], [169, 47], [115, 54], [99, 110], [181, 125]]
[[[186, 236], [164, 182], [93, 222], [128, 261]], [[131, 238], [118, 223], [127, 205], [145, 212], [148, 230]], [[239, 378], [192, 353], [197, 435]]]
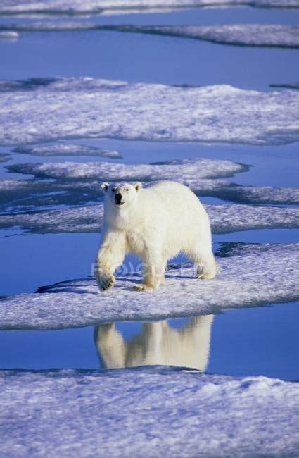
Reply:
[[1, 371], [0, 384], [5, 456], [295, 457], [299, 447], [298, 383], [153, 367]]

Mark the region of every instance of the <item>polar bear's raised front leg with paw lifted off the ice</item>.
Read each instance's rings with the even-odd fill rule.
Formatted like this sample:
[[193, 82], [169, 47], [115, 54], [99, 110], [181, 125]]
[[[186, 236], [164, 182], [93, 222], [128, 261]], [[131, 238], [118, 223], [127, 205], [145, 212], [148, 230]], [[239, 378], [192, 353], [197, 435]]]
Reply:
[[109, 232], [103, 235], [98, 254], [96, 256], [95, 276], [100, 290], [105, 291], [113, 287], [117, 269], [126, 254], [126, 238], [122, 231]]

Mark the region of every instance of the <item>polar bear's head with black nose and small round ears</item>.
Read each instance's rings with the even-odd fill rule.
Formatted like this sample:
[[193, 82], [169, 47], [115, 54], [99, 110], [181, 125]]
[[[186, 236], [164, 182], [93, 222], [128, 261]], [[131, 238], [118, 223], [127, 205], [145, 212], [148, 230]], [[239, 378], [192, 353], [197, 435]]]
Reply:
[[135, 183], [129, 185], [129, 183], [109, 185], [109, 183], [103, 183], [101, 188], [106, 195], [109, 202], [115, 206], [129, 206], [133, 204], [136, 199], [136, 195], [141, 190], [141, 183]]

